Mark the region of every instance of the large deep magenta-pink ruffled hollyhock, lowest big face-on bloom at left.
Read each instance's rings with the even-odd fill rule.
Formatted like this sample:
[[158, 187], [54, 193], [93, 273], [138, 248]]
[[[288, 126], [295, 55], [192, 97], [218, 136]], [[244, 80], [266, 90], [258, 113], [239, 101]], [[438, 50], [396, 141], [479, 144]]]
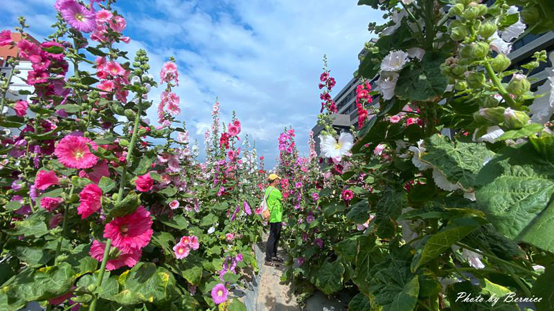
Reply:
[[152, 238], [152, 219], [150, 212], [139, 206], [133, 214], [114, 218], [104, 227], [104, 237], [123, 252], [140, 249], [150, 243]]

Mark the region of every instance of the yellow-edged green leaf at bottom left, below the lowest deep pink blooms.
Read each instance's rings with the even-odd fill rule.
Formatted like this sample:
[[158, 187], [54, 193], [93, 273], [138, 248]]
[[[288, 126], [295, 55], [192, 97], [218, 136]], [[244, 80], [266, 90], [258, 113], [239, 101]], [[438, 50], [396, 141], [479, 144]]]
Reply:
[[121, 274], [118, 283], [123, 288], [113, 297], [117, 303], [162, 303], [170, 299], [175, 288], [175, 277], [168, 270], [157, 268], [154, 263], [141, 262], [129, 272]]

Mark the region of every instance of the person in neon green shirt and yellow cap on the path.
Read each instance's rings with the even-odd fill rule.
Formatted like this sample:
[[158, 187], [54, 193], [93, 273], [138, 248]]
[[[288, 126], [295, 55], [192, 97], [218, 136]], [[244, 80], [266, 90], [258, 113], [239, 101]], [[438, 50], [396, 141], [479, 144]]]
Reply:
[[275, 262], [283, 263], [283, 258], [277, 256], [277, 245], [281, 237], [281, 227], [283, 224], [283, 195], [281, 191], [277, 189], [280, 177], [276, 174], [269, 175], [269, 187], [265, 189], [265, 198], [267, 202], [267, 209], [269, 209], [269, 238], [267, 238], [267, 244], [265, 248], [265, 264], [274, 265]]

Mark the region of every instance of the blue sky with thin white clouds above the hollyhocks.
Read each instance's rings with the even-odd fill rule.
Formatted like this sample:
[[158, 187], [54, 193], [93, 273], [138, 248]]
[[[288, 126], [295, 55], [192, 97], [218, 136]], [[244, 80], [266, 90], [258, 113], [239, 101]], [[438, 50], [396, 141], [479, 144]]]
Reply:
[[[1, 29], [13, 28], [24, 15], [37, 39], [51, 32], [54, 0], [7, 1]], [[129, 55], [145, 48], [154, 77], [168, 57], [177, 59], [179, 119], [201, 149], [219, 97], [222, 119], [229, 121], [236, 111], [243, 134], [256, 141], [268, 167], [285, 126], [296, 129], [298, 147], [307, 154], [321, 107], [317, 84], [323, 54], [337, 93], [357, 69], [357, 54], [370, 39], [368, 23], [382, 21], [382, 13], [357, 6], [357, 0], [119, 0], [114, 8], [127, 19]], [[155, 100], [148, 115], [154, 123], [160, 91], [150, 95]]]

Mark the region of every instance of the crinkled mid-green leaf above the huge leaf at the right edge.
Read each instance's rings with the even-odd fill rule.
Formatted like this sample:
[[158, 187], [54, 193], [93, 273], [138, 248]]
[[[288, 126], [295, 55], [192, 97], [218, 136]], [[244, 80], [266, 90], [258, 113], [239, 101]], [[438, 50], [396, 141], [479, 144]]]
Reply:
[[442, 171], [447, 179], [465, 189], [474, 187], [475, 178], [488, 157], [494, 156], [484, 143], [452, 142], [436, 134], [425, 142], [422, 160]]

